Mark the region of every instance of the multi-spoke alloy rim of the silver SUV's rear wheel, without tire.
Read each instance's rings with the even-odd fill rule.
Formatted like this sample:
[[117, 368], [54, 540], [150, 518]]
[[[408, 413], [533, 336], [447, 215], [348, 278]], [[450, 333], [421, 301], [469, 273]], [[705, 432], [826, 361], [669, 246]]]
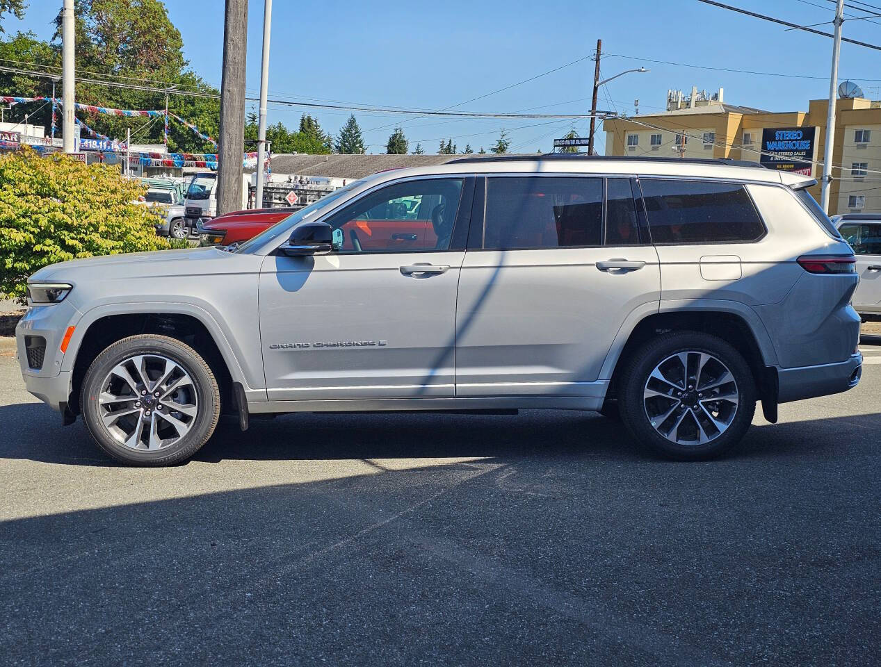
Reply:
[[737, 414], [734, 374], [707, 352], [670, 355], [648, 376], [643, 404], [661, 436], [679, 445], [702, 445], [728, 430]]

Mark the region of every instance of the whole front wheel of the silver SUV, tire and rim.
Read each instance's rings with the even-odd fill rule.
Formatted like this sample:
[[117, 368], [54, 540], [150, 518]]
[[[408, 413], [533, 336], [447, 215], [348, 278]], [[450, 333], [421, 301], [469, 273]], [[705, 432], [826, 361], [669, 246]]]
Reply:
[[220, 392], [211, 368], [168, 336], [123, 338], [83, 380], [83, 420], [100, 448], [130, 465], [174, 465], [211, 437]]

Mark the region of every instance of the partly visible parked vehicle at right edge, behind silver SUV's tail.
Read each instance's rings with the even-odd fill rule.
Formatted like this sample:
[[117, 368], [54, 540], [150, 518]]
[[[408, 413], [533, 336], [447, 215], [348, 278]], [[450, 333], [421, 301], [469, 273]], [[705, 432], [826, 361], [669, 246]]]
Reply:
[[856, 312], [867, 319], [881, 317], [881, 214], [846, 213], [834, 216], [833, 223], [856, 256]]

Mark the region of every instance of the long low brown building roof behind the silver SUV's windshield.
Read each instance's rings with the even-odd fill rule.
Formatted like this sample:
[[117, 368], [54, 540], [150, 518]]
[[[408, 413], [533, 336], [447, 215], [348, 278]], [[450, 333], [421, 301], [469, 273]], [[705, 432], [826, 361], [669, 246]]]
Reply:
[[[386, 169], [445, 165], [460, 155], [276, 155], [270, 165], [275, 173], [300, 176], [327, 176], [331, 179], [363, 179]], [[469, 157], [494, 158], [493, 153], [474, 153]], [[253, 169], [246, 169], [254, 171]]]

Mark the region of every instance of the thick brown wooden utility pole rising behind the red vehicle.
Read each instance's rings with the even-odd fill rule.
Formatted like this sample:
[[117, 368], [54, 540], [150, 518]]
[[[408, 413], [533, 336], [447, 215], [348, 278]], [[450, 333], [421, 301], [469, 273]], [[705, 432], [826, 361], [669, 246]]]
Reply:
[[241, 153], [245, 145], [247, 47], [248, 0], [226, 0], [223, 77], [220, 82], [218, 216], [241, 209]]

